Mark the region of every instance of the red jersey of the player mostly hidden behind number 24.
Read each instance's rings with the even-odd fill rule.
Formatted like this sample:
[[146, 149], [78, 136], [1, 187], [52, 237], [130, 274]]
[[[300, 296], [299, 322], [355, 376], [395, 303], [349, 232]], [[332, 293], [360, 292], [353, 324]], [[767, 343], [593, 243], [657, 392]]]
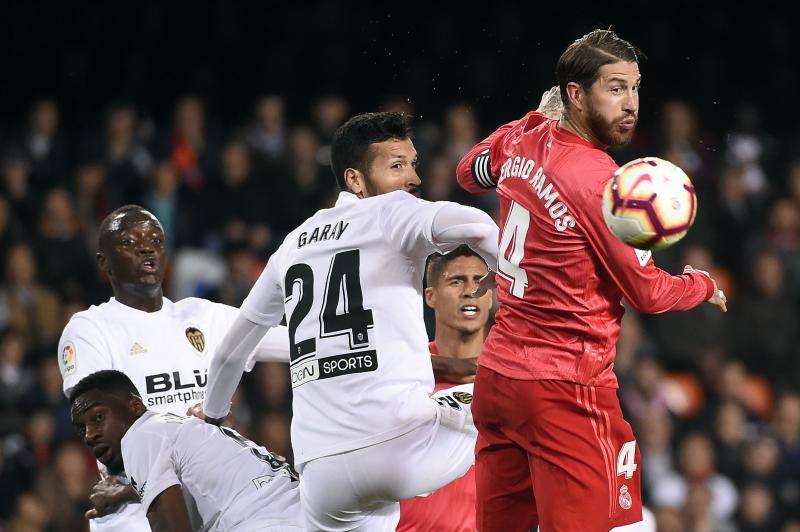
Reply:
[[[436, 343], [429, 345], [436, 355]], [[436, 380], [438, 392], [455, 383]], [[400, 522], [397, 532], [474, 532], [475, 525], [475, 466], [463, 477], [439, 488], [427, 497], [415, 497], [400, 503]]]

